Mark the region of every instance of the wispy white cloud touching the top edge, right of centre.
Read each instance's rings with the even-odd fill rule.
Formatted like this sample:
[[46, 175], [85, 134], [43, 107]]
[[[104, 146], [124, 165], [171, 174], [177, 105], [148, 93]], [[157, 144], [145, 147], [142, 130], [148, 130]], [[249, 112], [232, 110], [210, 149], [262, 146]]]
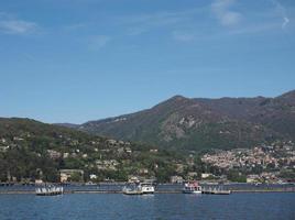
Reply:
[[230, 10], [236, 0], [215, 0], [211, 3], [211, 10], [219, 22], [225, 26], [232, 26], [240, 23], [242, 14]]

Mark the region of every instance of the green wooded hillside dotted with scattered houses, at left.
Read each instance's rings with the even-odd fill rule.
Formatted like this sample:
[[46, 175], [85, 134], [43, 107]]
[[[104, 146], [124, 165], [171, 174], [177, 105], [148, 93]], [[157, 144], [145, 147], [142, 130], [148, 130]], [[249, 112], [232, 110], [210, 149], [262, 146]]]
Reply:
[[[183, 155], [154, 146], [117, 141], [30, 119], [0, 119], [0, 180], [59, 182], [59, 169], [83, 169], [84, 179], [127, 180], [129, 176], [165, 182]], [[76, 179], [72, 179], [76, 180]]]

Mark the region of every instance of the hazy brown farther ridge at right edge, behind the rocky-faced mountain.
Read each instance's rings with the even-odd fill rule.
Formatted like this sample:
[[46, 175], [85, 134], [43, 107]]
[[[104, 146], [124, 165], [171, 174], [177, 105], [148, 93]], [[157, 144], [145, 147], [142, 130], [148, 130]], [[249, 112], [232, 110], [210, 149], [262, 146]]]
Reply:
[[287, 139], [295, 139], [295, 90], [276, 98], [223, 98], [197, 100], [232, 119], [262, 124]]

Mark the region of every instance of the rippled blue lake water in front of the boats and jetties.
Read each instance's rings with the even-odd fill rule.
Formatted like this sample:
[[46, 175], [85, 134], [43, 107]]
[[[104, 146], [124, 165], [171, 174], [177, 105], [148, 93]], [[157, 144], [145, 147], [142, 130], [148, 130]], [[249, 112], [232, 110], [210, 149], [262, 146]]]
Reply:
[[294, 193], [0, 195], [1, 220], [295, 219]]

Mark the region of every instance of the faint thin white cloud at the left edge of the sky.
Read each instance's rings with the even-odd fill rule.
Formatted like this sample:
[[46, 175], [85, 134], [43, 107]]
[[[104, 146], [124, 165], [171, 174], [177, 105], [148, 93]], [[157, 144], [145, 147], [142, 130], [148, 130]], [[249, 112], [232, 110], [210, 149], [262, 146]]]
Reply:
[[14, 19], [10, 14], [0, 13], [0, 33], [4, 34], [29, 34], [36, 31], [35, 22]]

